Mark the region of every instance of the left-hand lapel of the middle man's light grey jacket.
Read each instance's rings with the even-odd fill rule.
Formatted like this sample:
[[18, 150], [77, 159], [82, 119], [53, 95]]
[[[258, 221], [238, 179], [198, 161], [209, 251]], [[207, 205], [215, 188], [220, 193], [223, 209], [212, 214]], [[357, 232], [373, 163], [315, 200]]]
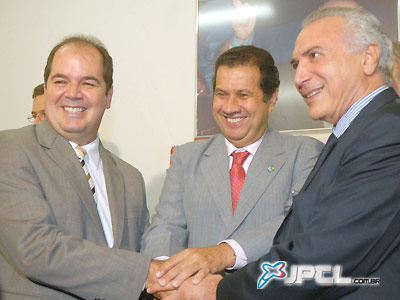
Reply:
[[225, 139], [221, 134], [213, 138], [204, 152], [200, 171], [223, 223], [229, 226], [232, 221], [229, 157]]

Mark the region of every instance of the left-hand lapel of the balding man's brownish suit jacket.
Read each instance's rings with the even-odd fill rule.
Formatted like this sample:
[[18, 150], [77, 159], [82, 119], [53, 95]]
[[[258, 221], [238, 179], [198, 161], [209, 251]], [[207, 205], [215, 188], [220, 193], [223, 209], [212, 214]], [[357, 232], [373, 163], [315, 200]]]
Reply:
[[75, 186], [76, 194], [83, 202], [99, 232], [103, 233], [104, 236], [92, 192], [71, 144], [67, 139], [59, 135], [47, 120], [37, 125], [36, 131], [40, 145], [47, 149], [47, 155], [60, 167], [65, 176]]

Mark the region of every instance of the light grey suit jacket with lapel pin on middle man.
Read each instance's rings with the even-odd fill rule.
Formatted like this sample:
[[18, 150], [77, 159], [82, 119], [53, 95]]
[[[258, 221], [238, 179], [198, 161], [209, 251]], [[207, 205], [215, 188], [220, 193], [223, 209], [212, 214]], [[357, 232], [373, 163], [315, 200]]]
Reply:
[[234, 239], [248, 261], [257, 259], [271, 247], [293, 193], [300, 190], [321, 148], [322, 143], [311, 138], [268, 131], [249, 166], [233, 216], [224, 137], [176, 147], [141, 252], [172, 255]]

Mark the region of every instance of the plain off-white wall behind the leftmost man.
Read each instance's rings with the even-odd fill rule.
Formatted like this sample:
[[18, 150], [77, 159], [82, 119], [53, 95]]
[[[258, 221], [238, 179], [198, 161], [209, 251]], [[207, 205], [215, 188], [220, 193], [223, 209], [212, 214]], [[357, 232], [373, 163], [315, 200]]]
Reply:
[[97, 36], [115, 70], [100, 136], [142, 172], [153, 212], [170, 147], [194, 138], [196, 16], [195, 0], [0, 0], [0, 130], [27, 125], [56, 43]]

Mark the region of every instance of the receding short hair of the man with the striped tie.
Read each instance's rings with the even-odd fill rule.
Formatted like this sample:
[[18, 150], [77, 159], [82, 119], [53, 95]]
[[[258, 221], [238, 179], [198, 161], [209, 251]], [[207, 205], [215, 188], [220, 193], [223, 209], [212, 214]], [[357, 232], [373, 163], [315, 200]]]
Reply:
[[106, 94], [113, 84], [113, 61], [112, 57], [108, 53], [107, 49], [103, 45], [103, 43], [93, 36], [86, 35], [75, 35], [71, 37], [67, 37], [58, 43], [54, 48], [50, 51], [49, 57], [47, 58], [47, 64], [44, 69], [44, 83], [47, 86], [47, 80], [49, 79], [51, 65], [53, 64], [54, 55], [57, 50], [66, 44], [82, 44], [87, 46], [92, 46], [96, 48], [101, 56], [103, 57], [103, 79], [106, 83]]

